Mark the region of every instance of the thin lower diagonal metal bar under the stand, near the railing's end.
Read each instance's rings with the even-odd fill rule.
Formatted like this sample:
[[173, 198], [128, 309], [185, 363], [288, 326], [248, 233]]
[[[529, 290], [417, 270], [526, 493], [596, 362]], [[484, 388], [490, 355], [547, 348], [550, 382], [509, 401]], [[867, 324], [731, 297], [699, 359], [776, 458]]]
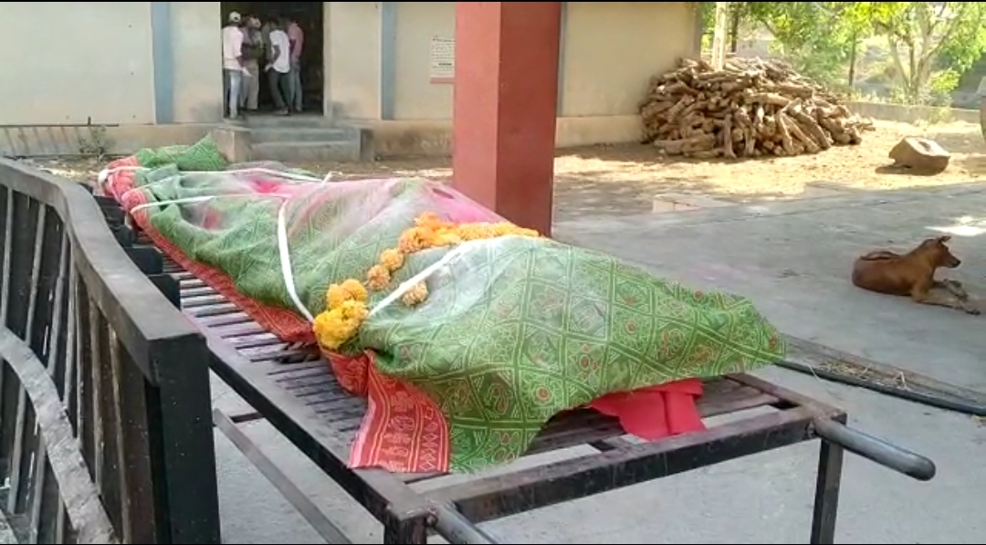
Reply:
[[226, 436], [241, 452], [244, 453], [246, 459], [248, 459], [260, 473], [270, 481], [270, 484], [274, 485], [274, 488], [280, 492], [284, 499], [288, 501], [303, 517], [308, 520], [309, 524], [315, 528], [327, 543], [352, 543], [352, 541], [346, 537], [346, 534], [339, 529], [338, 526], [333, 524], [322, 512], [317, 508], [317, 506], [309, 499], [308, 496], [302, 492], [291, 478], [282, 472], [274, 462], [270, 461], [263, 452], [260, 451], [259, 447], [244, 434], [237, 425], [226, 416], [220, 409], [214, 409], [212, 411], [212, 421], [215, 423], [216, 428]]

